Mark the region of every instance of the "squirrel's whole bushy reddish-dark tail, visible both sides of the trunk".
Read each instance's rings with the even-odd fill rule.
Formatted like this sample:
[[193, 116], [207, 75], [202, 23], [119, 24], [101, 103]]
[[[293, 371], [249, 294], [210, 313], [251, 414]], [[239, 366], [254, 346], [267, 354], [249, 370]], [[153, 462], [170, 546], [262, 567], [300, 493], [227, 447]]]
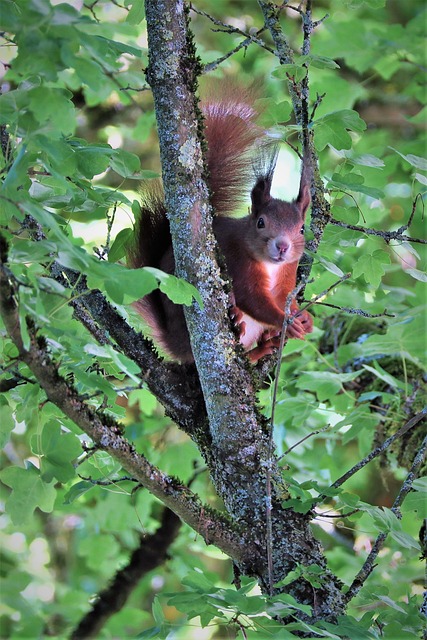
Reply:
[[[249, 92], [239, 90], [236, 94], [235, 90], [226, 89], [221, 90], [220, 98], [208, 99], [201, 105], [208, 143], [208, 183], [216, 215], [233, 214], [247, 198], [254, 181], [251, 152], [263, 138], [263, 131], [255, 124], [258, 114], [252, 104]], [[134, 238], [127, 256], [130, 267], [151, 266], [173, 272], [172, 239], [160, 181], [150, 181], [143, 188]], [[134, 306], [150, 327], [154, 341], [167, 354], [181, 362], [192, 361], [181, 308], [159, 290]]]

